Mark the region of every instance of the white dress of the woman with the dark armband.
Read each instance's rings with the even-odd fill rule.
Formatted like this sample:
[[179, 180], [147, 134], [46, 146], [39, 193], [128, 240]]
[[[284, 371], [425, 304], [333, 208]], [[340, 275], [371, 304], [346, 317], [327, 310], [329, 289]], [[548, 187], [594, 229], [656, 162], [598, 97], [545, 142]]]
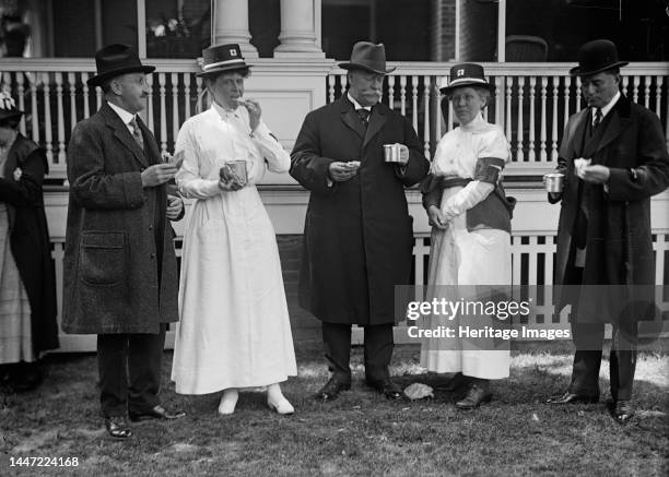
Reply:
[[[479, 115], [468, 124], [442, 138], [431, 172], [435, 176], [472, 179], [477, 160], [482, 157], [508, 162], [509, 150], [502, 129], [488, 123]], [[510, 285], [509, 235], [491, 228], [467, 230], [467, 211], [492, 191], [492, 184], [478, 180], [472, 180], [463, 188], [454, 187], [444, 191], [442, 212], [456, 216], [446, 230], [432, 230], [429, 285]], [[459, 297], [446, 298], [457, 300]], [[456, 315], [453, 320], [444, 315], [430, 315], [422, 327], [438, 330], [438, 326], [449, 326], [457, 330], [459, 325], [466, 326], [470, 319], [468, 315]], [[477, 317], [477, 326], [480, 327], [484, 322], [484, 318]], [[465, 375], [481, 379], [507, 378], [510, 359], [508, 347], [500, 349], [490, 344], [481, 346], [482, 343], [479, 341], [472, 346], [466, 339], [425, 338], [421, 347], [421, 365], [434, 372], [460, 371]]]

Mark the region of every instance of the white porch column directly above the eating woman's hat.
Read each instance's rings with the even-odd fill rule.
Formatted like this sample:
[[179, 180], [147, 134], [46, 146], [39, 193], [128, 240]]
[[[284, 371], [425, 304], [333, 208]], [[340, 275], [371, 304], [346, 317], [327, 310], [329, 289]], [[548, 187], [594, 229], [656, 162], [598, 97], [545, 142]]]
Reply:
[[258, 58], [250, 44], [248, 31], [248, 0], [215, 0], [212, 12], [213, 45], [239, 44], [246, 58]]

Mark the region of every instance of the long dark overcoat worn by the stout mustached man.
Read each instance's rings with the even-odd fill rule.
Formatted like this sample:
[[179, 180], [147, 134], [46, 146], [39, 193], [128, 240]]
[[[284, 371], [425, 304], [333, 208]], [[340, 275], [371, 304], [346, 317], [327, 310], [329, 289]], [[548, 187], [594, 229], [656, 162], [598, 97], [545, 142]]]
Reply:
[[[409, 147], [404, 174], [384, 144]], [[395, 285], [409, 283], [412, 218], [404, 187], [430, 167], [411, 123], [378, 104], [365, 128], [343, 96], [312, 111], [292, 153], [291, 176], [312, 193], [304, 228], [300, 303], [331, 323], [394, 322]], [[360, 160], [352, 179], [328, 186], [334, 160]]]

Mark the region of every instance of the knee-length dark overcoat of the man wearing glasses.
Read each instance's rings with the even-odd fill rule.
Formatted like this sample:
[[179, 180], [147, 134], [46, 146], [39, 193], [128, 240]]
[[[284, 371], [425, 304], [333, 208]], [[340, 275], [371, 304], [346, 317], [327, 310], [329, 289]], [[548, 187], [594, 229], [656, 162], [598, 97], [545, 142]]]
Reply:
[[161, 157], [151, 131], [138, 123], [144, 151], [106, 103], [72, 131], [62, 321], [68, 333], [157, 333], [160, 323], [178, 320], [165, 186], [143, 189], [140, 177]]

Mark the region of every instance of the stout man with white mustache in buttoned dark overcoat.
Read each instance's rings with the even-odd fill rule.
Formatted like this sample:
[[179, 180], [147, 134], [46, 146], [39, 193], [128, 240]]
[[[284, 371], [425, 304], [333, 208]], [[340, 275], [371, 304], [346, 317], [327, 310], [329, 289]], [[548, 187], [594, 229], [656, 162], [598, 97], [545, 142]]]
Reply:
[[[429, 169], [411, 123], [379, 103], [386, 69], [383, 45], [359, 41], [349, 90], [307, 115], [292, 153], [291, 176], [312, 193], [307, 208], [300, 302], [322, 322], [332, 377], [317, 393], [334, 400], [351, 386], [351, 325], [365, 329], [367, 384], [389, 398], [395, 285], [409, 283], [412, 219], [404, 187]], [[399, 163], [384, 160], [384, 144], [400, 143]]]

